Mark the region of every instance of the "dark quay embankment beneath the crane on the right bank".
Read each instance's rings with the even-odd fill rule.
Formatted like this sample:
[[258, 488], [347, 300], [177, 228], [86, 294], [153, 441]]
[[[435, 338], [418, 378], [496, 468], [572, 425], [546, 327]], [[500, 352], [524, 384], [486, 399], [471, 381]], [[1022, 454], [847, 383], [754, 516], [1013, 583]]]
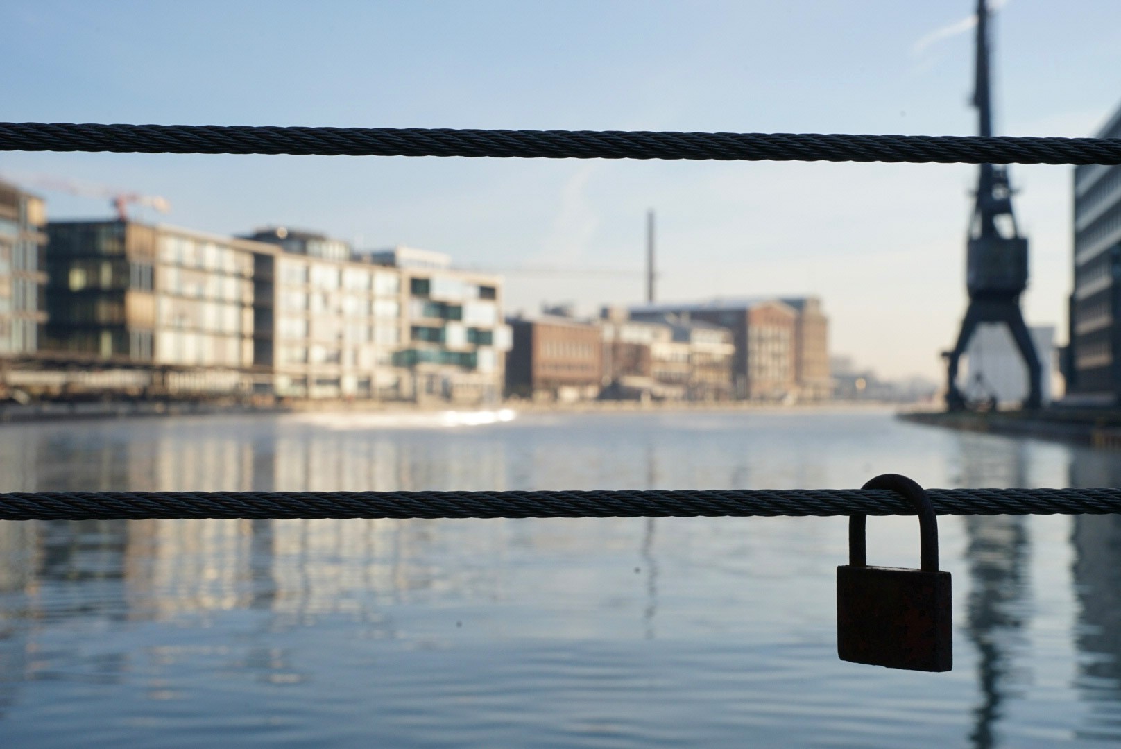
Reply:
[[1121, 450], [1121, 412], [1046, 408], [1038, 412], [911, 412], [899, 418], [965, 432], [1007, 434]]

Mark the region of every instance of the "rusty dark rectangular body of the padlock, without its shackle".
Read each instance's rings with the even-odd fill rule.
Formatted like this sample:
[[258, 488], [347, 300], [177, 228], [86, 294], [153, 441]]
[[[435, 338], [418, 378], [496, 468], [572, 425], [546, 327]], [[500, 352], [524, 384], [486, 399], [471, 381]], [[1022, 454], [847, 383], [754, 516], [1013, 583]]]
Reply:
[[954, 663], [951, 575], [901, 567], [837, 567], [837, 655], [910, 671]]

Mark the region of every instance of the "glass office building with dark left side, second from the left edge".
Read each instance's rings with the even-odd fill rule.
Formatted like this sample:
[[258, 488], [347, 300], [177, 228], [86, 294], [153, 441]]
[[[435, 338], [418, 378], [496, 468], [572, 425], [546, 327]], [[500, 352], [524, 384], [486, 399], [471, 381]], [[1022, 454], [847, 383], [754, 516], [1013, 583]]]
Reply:
[[47, 224], [47, 346], [167, 370], [167, 390], [240, 390], [253, 363], [244, 240], [135, 221]]

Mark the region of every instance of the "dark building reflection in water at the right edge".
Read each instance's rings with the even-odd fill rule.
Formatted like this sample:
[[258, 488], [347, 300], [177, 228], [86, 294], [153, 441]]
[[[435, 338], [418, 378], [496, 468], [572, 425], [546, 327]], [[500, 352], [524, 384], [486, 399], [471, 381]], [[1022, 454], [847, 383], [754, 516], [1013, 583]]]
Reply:
[[[1121, 487], [1121, 455], [1072, 451], [1072, 487]], [[1076, 686], [1088, 710], [1078, 736], [1121, 740], [1121, 516], [1076, 515], [1074, 586], [1078, 601]]]

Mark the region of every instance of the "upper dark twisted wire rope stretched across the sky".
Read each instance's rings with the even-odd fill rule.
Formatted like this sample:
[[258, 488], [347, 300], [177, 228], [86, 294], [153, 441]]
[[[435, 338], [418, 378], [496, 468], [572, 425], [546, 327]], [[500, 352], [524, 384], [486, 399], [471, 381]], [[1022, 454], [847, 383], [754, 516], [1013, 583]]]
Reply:
[[1102, 138], [68, 122], [0, 122], [0, 150], [914, 164], [1121, 164], [1121, 140]]

